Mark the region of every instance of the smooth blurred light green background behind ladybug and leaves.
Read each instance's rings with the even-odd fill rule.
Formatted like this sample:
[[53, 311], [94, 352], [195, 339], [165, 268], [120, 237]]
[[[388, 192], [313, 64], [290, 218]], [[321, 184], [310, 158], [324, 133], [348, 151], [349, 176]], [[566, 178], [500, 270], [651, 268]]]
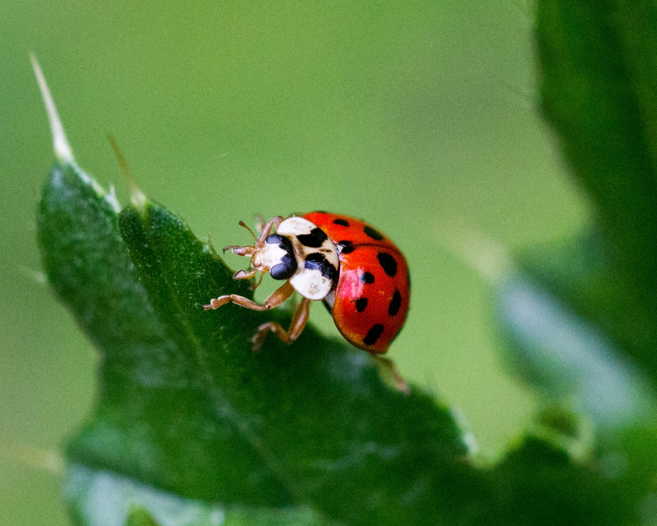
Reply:
[[[40, 274], [35, 206], [53, 153], [28, 51], [78, 163], [115, 183], [123, 203], [107, 132], [143, 191], [216, 247], [248, 241], [240, 219], [315, 208], [396, 240], [413, 300], [390, 356], [463, 416], [486, 459], [529, 425], [535, 400], [505, 370], [489, 283], [454, 238], [474, 231], [512, 251], [589, 216], [535, 110], [531, 10], [512, 0], [1, 3], [0, 523], [67, 523], [57, 464], [40, 452], [56, 452], [85, 418], [97, 363]], [[338, 337], [322, 306], [311, 320]]]

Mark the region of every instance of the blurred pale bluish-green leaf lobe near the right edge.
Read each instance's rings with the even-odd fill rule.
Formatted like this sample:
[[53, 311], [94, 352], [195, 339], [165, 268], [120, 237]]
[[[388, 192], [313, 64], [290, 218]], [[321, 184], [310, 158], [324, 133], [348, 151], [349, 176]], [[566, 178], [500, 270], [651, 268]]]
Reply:
[[[583, 277], [567, 261], [560, 263]], [[495, 314], [516, 373], [552, 402], [592, 418], [597, 427], [625, 427], [648, 418], [655, 409], [654, 393], [641, 371], [623, 359], [599, 325], [547, 293], [555, 287], [532, 278], [511, 275], [496, 293]]]

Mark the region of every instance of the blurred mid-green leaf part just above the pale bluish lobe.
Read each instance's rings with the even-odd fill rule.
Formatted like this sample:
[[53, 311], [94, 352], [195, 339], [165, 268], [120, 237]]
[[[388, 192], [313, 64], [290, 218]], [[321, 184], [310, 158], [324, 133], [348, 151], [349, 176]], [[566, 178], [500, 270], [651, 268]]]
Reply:
[[[516, 262], [528, 286], [539, 287], [543, 294], [549, 291], [563, 316], [578, 318], [569, 323], [579, 323], [589, 347], [605, 348], [617, 368], [627, 369], [629, 364], [618, 361], [627, 354], [657, 378], [657, 311], [646, 308], [618, 251], [599, 229], [526, 250]], [[574, 358], [572, 352], [569, 356]], [[631, 375], [629, 382], [639, 389], [641, 375]]]

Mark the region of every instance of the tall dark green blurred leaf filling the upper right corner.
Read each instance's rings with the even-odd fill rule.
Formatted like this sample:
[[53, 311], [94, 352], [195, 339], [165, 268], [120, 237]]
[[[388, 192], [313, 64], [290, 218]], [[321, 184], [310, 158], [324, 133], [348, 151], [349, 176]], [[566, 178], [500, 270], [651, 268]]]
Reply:
[[536, 36], [543, 112], [593, 198], [629, 285], [654, 313], [657, 5], [541, 0]]

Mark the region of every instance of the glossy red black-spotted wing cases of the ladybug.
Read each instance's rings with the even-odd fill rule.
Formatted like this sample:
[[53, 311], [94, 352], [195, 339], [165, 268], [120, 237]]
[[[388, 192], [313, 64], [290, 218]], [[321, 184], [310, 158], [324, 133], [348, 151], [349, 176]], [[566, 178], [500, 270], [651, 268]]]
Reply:
[[333, 320], [355, 347], [381, 354], [406, 321], [411, 282], [406, 260], [388, 237], [350, 216], [309, 212], [303, 216], [338, 247], [340, 277]]

